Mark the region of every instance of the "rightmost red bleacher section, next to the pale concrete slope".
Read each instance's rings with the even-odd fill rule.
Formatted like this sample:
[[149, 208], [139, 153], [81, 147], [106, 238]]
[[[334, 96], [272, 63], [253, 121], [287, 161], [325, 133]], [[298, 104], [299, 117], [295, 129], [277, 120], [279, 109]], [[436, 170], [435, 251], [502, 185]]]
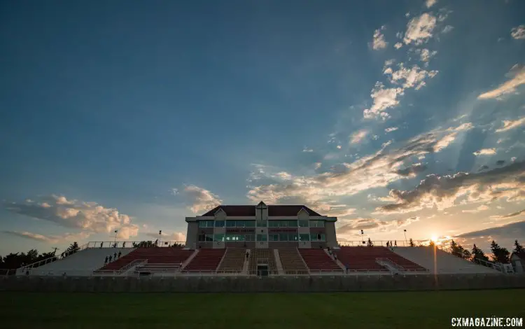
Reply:
[[403, 258], [383, 246], [344, 246], [336, 252], [336, 255], [343, 265], [349, 267], [349, 271], [387, 271], [386, 267], [377, 263], [377, 258], [387, 259], [394, 265], [409, 271], [426, 270], [421, 265], [407, 260], [407, 258]]

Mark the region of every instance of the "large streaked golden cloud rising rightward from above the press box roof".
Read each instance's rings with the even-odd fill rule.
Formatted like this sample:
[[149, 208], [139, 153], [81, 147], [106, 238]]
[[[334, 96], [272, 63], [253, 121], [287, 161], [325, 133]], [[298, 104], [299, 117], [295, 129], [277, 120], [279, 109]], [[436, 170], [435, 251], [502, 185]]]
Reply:
[[386, 187], [393, 181], [422, 172], [426, 167], [414, 165], [414, 158], [435, 153], [435, 147], [444, 135], [466, 131], [470, 127], [472, 125], [463, 124], [433, 130], [409, 139], [398, 148], [388, 149], [391, 146], [391, 141], [388, 141], [376, 153], [363, 155], [351, 163], [344, 162], [327, 172], [309, 176], [290, 174], [288, 181], [276, 178], [276, 173], [281, 172], [278, 168], [255, 167], [256, 172], [251, 177], [257, 179], [251, 180], [247, 197], [253, 202], [264, 200], [271, 204], [308, 204], [317, 209], [329, 210], [337, 197], [349, 197], [370, 188]]

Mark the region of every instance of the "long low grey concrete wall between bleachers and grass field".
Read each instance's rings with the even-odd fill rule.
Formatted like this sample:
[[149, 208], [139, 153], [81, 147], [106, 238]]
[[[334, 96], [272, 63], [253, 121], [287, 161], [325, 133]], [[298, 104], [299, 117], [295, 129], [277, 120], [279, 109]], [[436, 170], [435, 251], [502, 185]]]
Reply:
[[325, 277], [35, 277], [0, 279], [0, 291], [101, 293], [313, 293], [335, 291], [525, 288], [524, 275], [412, 275]]

